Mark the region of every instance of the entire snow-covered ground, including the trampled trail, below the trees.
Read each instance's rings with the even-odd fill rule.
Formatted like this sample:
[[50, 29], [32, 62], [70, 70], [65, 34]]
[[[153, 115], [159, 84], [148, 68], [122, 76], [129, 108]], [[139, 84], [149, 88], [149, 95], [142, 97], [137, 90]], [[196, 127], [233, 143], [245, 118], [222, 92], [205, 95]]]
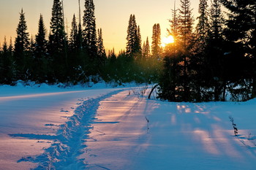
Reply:
[[170, 103], [142, 90], [0, 86], [0, 169], [256, 169], [255, 99]]

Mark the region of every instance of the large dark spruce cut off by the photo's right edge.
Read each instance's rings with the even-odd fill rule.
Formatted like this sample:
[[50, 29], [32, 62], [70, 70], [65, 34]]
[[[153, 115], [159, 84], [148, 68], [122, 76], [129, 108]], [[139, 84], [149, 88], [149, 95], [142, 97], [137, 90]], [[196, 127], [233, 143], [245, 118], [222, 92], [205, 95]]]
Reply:
[[[233, 80], [236, 76], [236, 83], [242, 82], [238, 86], [240, 93], [247, 96], [245, 98], [254, 98], [256, 96], [256, 2], [254, 0], [221, 1], [229, 11], [224, 34], [225, 38], [233, 44], [232, 48], [225, 53], [228, 52], [227, 54], [233, 59], [232, 63], [229, 62], [230, 65], [236, 67], [231, 71]], [[252, 88], [248, 88], [248, 85]]]

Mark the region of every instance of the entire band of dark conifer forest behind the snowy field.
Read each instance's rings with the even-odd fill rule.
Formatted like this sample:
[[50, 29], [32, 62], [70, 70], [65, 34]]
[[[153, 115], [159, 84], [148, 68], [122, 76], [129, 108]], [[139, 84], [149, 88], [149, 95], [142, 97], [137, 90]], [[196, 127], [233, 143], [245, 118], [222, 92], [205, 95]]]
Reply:
[[[173, 42], [162, 45], [161, 27], [152, 28], [152, 42], [143, 41], [135, 15], [127, 18], [127, 47], [104, 47], [104, 28], [97, 28], [93, 0], [83, 2], [65, 31], [61, 0], [54, 0], [47, 34], [43, 15], [31, 37], [20, 10], [14, 39], [0, 50], [0, 84], [18, 80], [77, 85], [104, 81], [154, 84], [167, 101], [246, 101], [256, 97], [256, 1], [200, 0], [199, 16], [192, 1], [166, 16]], [[125, 19], [125, 18], [124, 18]], [[148, 18], [150, 20], [150, 18]], [[165, 28], [163, 28], [165, 29]]]

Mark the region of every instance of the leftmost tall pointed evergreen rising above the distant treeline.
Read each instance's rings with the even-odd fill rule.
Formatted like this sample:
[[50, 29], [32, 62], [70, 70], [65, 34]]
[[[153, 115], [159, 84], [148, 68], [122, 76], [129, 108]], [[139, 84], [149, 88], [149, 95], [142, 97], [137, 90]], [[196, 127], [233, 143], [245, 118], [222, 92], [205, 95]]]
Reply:
[[15, 61], [18, 69], [18, 79], [24, 79], [23, 75], [28, 71], [27, 59], [29, 51], [29, 33], [27, 32], [25, 13], [21, 9], [18, 23], [17, 37], [15, 39]]

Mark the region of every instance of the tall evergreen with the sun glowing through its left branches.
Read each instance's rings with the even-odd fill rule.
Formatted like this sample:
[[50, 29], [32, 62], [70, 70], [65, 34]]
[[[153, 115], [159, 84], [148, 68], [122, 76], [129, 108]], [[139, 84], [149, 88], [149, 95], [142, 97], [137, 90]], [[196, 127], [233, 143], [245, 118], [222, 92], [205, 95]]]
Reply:
[[[181, 0], [181, 8], [173, 10], [170, 34], [176, 35], [174, 45], [165, 50], [164, 69], [160, 78], [159, 97], [169, 101], [192, 101], [194, 99], [194, 74], [192, 56], [194, 34], [192, 32], [192, 9], [189, 0]], [[178, 21], [176, 21], [178, 19]]]

